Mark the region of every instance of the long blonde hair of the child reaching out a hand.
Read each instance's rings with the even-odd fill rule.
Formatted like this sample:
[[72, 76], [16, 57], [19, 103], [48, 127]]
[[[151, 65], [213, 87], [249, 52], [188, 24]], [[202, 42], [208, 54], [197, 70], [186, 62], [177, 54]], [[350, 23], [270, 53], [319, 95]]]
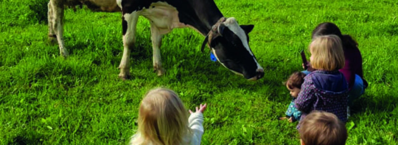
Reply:
[[191, 134], [189, 114], [178, 95], [166, 88], [150, 90], [142, 99], [138, 130], [130, 145], [181, 145]]

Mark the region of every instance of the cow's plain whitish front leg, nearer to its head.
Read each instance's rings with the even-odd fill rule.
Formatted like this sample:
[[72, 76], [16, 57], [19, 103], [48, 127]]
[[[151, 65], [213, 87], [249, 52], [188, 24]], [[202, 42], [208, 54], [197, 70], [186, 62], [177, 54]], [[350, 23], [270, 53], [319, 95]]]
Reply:
[[162, 68], [162, 57], [160, 56], [160, 46], [162, 45], [163, 35], [159, 32], [156, 25], [150, 23], [151, 39], [152, 39], [152, 49], [153, 49], [153, 69], [161, 76], [164, 74], [164, 69]]

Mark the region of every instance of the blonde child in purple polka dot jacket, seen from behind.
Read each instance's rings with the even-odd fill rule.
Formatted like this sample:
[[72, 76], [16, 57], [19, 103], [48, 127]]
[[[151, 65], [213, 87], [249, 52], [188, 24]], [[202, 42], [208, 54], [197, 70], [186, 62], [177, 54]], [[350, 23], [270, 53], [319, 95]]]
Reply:
[[[318, 36], [309, 46], [310, 62], [316, 71], [304, 77], [301, 91], [295, 100], [302, 112], [301, 120], [313, 110], [333, 113], [347, 121], [348, 84], [339, 69], [344, 67], [341, 40], [336, 35]], [[301, 121], [300, 120], [300, 121]], [[300, 123], [297, 129], [300, 128]]]

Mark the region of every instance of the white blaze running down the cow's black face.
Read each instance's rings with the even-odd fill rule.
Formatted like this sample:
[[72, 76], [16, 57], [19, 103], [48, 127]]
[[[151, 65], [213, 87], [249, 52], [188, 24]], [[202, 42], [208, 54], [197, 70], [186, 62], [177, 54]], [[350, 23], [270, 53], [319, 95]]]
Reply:
[[256, 58], [254, 58], [254, 55], [252, 51], [250, 50], [249, 43], [247, 41], [246, 33], [245, 31], [240, 27], [238, 22], [236, 22], [236, 19], [231, 17], [225, 20], [224, 25], [228, 27], [235, 35], [239, 37], [239, 39], [242, 41], [243, 46], [246, 48], [246, 50], [250, 53], [250, 55], [253, 56], [254, 62], [257, 64], [257, 69], [263, 69], [259, 63], [257, 62]]

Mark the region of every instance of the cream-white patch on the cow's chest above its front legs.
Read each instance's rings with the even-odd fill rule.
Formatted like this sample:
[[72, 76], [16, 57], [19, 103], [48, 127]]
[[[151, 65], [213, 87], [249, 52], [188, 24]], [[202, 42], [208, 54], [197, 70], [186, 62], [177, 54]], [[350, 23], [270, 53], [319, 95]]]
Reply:
[[161, 34], [166, 34], [174, 28], [191, 27], [179, 22], [177, 9], [166, 2], [153, 3], [148, 9], [141, 10], [140, 15], [155, 25]]

